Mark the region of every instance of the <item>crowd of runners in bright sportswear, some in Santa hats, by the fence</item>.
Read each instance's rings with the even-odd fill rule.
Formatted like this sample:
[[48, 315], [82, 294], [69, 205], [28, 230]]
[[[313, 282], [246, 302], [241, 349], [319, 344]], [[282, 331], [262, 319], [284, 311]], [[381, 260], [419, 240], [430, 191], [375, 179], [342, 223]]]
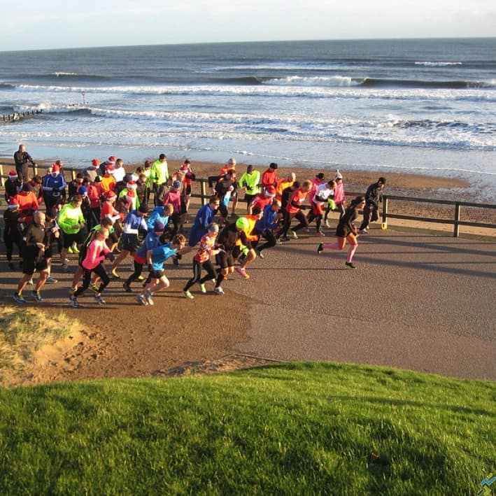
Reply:
[[[345, 267], [355, 269], [357, 237], [367, 234], [369, 222], [378, 219], [385, 186], [385, 178], [378, 178], [364, 196], [348, 202], [339, 170], [332, 178], [320, 172], [299, 181], [295, 173], [279, 178], [278, 165], [272, 163], [263, 173], [248, 165], [238, 176], [236, 160], [229, 159], [217, 175], [208, 177], [208, 203], [190, 215], [196, 180], [190, 160], [169, 173], [162, 154], [129, 173], [121, 159], [94, 159], [69, 183], [60, 161], [45, 176], [29, 177], [29, 163], [36, 163], [22, 145], [14, 160], [15, 169], [5, 182], [3, 238], [12, 271], [15, 247], [19, 254], [22, 278], [13, 298], [20, 304], [26, 303], [27, 285], [33, 285], [31, 297], [41, 302], [43, 285], [57, 283], [51, 276], [55, 253], [64, 272], [71, 271], [67, 255], [78, 255], [69, 295], [73, 307], [88, 288], [97, 304], [105, 304], [103, 293], [112, 279], [120, 280], [128, 293], [137, 285], [136, 303], [153, 305], [153, 295], [169, 287], [166, 260], [176, 266], [190, 264], [188, 253], [192, 277], [185, 281], [183, 296], [194, 299], [194, 285], [206, 293], [210, 281], [215, 295], [223, 295], [229, 274], [236, 271], [250, 278], [248, 270], [257, 257], [263, 259], [267, 250], [298, 239], [299, 231], [325, 236], [322, 227], [330, 227], [332, 211], [339, 213], [336, 242], [320, 241], [316, 253], [343, 250], [348, 242]], [[356, 227], [359, 211], [363, 218]], [[119, 272], [128, 259], [131, 274], [124, 279]]]

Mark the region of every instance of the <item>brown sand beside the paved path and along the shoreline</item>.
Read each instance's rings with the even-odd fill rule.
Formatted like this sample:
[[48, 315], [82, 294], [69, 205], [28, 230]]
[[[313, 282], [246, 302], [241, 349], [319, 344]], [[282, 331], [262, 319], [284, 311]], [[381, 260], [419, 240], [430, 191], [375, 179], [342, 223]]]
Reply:
[[[11, 161], [10, 161], [11, 163]], [[6, 164], [5, 171], [8, 171], [8, 160], [3, 161]], [[180, 162], [169, 161], [169, 171], [173, 172], [178, 169]], [[198, 177], [207, 177], [215, 175], [220, 170], [222, 164], [211, 162], [193, 164], [194, 171]], [[135, 164], [127, 166], [128, 171], [132, 171]], [[261, 172], [264, 168], [258, 168]], [[238, 175], [246, 170], [246, 164], [236, 166]], [[280, 176], [289, 171], [297, 174], [298, 180], [312, 178], [319, 171], [310, 171], [309, 169], [299, 168], [282, 168], [279, 169]], [[324, 171], [326, 177], [332, 177], [334, 171]], [[415, 196], [423, 198], [441, 198], [457, 199], [460, 192], [467, 188], [469, 184], [462, 180], [449, 178], [432, 178], [427, 176], [418, 176], [413, 174], [391, 174], [391, 173], [370, 173], [370, 172], [353, 172], [343, 173], [346, 190], [355, 192], [364, 192], [366, 187], [377, 180], [378, 176], [384, 175], [388, 179], [388, 194], [397, 194], [405, 196]], [[462, 194], [461, 194], [462, 196]], [[348, 197], [349, 198], [349, 197]], [[476, 200], [475, 198], [464, 197], [464, 200]], [[406, 205], [406, 204], [405, 204]], [[428, 217], [440, 217], [444, 215], [452, 216], [446, 208], [438, 205], [426, 204], [408, 204], [407, 206], [397, 206], [398, 212], [411, 213], [411, 205], [415, 206], [416, 215], [427, 215]], [[405, 210], [405, 208], [408, 208]], [[243, 213], [244, 204], [240, 202], [238, 207], [239, 213]], [[493, 211], [494, 212], [494, 211]], [[194, 213], [194, 208], [192, 208]], [[487, 211], [486, 211], [487, 213]], [[474, 220], [479, 219], [480, 213], [472, 212]], [[334, 219], [335, 220], [335, 219]], [[493, 215], [490, 219], [484, 218], [483, 222], [496, 222]], [[389, 225], [392, 228], [405, 225], [406, 221], [390, 220]], [[419, 222], [410, 222], [409, 227], [425, 227], [425, 224]], [[427, 225], [432, 227], [432, 225]], [[435, 229], [452, 230], [451, 226], [435, 225]], [[464, 228], [467, 229], [467, 228]], [[469, 232], [470, 229], [467, 230]], [[486, 235], [488, 229], [485, 229]], [[420, 232], [420, 231], [416, 231]], [[464, 231], [462, 231], [464, 232]], [[332, 229], [327, 231], [327, 235], [332, 239]], [[474, 234], [481, 234], [481, 229], [474, 229]], [[367, 240], [368, 241], [368, 240]], [[298, 250], [297, 241], [288, 249]], [[308, 243], [309, 248], [305, 248]], [[301, 247], [305, 250], [312, 250], [315, 239], [302, 239]], [[275, 252], [275, 250], [274, 250]], [[303, 253], [303, 252], [302, 252]], [[312, 252], [313, 253], [313, 252]], [[305, 257], [308, 255], [305, 255]], [[72, 256], [71, 266], [76, 263], [76, 257]], [[258, 329], [253, 329], [253, 309], [259, 308], [260, 304], [266, 309], [267, 318], [270, 318], [270, 303], [264, 304], [260, 297], [266, 294], [267, 288], [284, 288], [287, 283], [288, 275], [284, 271], [269, 271], [270, 281], [258, 280], [262, 285], [260, 295], [255, 292], [253, 298], [247, 297], [244, 291], [236, 291], [236, 285], [239, 281], [227, 282], [227, 292], [224, 297], [216, 297], [209, 294], [207, 297], [197, 296], [194, 302], [189, 302], [180, 296], [180, 289], [187, 278], [191, 276], [190, 260], [181, 264], [179, 269], [169, 267], [168, 276], [171, 281], [171, 288], [166, 292], [158, 295], [154, 307], [142, 309], [134, 302], [133, 295], [129, 296], [122, 292], [122, 280], [112, 281], [108, 288], [108, 304], [103, 308], [95, 308], [90, 302], [90, 296], [83, 297], [83, 307], [74, 311], [68, 308], [67, 289], [69, 287], [71, 274], [63, 274], [59, 271], [59, 261], [55, 257], [54, 276], [59, 279], [55, 286], [46, 286], [43, 290], [46, 301], [38, 305], [42, 312], [50, 313], [57, 309], [64, 309], [73, 314], [80, 323], [82, 323], [82, 332], [74, 337], [73, 346], [58, 348], [49, 348], [46, 353], [41, 350], [38, 353], [38, 359], [31, 364], [22, 376], [17, 376], [9, 382], [13, 384], [36, 384], [50, 381], [65, 381], [74, 379], [87, 378], [110, 378], [110, 377], [149, 377], [149, 376], [169, 376], [176, 374], [192, 373], [211, 373], [214, 371], [225, 371], [241, 367], [250, 367], [257, 364], [271, 363], [271, 360], [277, 358], [275, 352], [270, 357], [251, 356], [250, 353], [243, 353], [240, 350], [250, 348], [247, 345], [248, 336], [256, 334]], [[310, 259], [309, 259], [310, 260]], [[260, 264], [260, 260], [257, 264]], [[266, 264], [267, 261], [264, 261]], [[6, 264], [3, 263], [3, 275], [0, 281], [0, 296], [3, 302], [10, 304], [10, 295], [15, 288], [20, 273], [10, 274], [6, 272]], [[129, 260], [122, 264], [122, 272], [127, 273]], [[256, 265], [255, 265], [256, 267]], [[265, 267], [260, 264], [263, 271]], [[314, 270], [313, 267], [307, 267], [306, 270]], [[348, 273], [346, 273], [348, 274]], [[253, 271], [253, 279], [257, 281], [261, 274], [258, 273], [258, 267]], [[233, 277], [234, 278], [234, 277]], [[248, 281], [248, 282], [250, 282]], [[28, 290], [29, 288], [27, 288]], [[139, 288], [133, 288], [136, 292]], [[27, 291], [26, 291], [27, 292]], [[291, 298], [297, 297], [292, 295]], [[305, 295], [310, 300], [312, 295]], [[422, 295], [419, 295], [419, 306], [423, 305]], [[29, 302], [29, 305], [32, 303]], [[274, 315], [281, 314], [281, 308], [278, 308]], [[283, 315], [283, 314], [281, 314]], [[310, 314], [309, 314], [310, 315]], [[318, 316], [312, 312], [312, 319]], [[312, 320], [313, 321], [313, 320]], [[442, 332], [443, 330], [439, 330]], [[467, 338], [468, 339], [468, 338]], [[77, 342], [76, 342], [77, 341]], [[444, 339], [435, 342], [436, 346], [442, 348], [446, 346]], [[460, 348], [467, 348], [470, 343], [460, 343]], [[474, 343], [472, 343], [474, 345]], [[476, 342], [474, 349], [482, 349], [481, 343]], [[457, 360], [453, 360], [450, 367], [438, 367], [435, 364], [428, 364], [419, 357], [418, 362], [411, 363], [408, 358], [402, 361], [401, 355], [395, 355], [394, 362], [384, 358], [376, 360], [374, 356], [357, 357], [353, 350], [346, 352], [346, 346], [342, 354], [335, 359], [338, 361], [356, 361], [368, 363], [392, 364], [395, 367], [418, 369], [425, 371], [434, 371], [453, 376], [479, 376], [477, 373], [463, 370], [463, 364], [457, 365]], [[277, 344], [274, 344], [277, 348]], [[374, 353], [374, 352], [370, 352]], [[397, 359], [397, 357], [400, 357]], [[311, 359], [311, 357], [310, 357]], [[428, 360], [432, 360], [428, 358]], [[432, 365], [432, 366], [431, 366]], [[458, 368], [457, 368], [458, 367]], [[492, 372], [491, 372], [492, 373]]]

